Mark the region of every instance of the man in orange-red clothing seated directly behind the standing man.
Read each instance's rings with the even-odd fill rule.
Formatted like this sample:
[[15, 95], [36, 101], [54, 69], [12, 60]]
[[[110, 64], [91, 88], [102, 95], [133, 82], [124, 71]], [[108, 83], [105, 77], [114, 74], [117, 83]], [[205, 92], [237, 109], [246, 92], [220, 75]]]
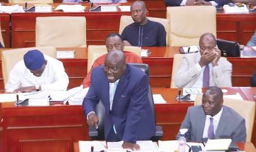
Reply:
[[[107, 52], [110, 52], [116, 49], [123, 51], [125, 54], [127, 63], [142, 63], [141, 57], [139, 57], [137, 54], [135, 54], [134, 52], [124, 51], [124, 48], [125, 48], [124, 42], [121, 38], [121, 35], [119, 35], [118, 33], [110, 33], [109, 35], [107, 35], [106, 48], [107, 48]], [[91, 70], [88, 72], [87, 76], [85, 77], [85, 79], [83, 79], [83, 82], [81, 83], [81, 85], [83, 85], [83, 88], [88, 88], [91, 85], [92, 69], [94, 69], [94, 67], [101, 66], [102, 64], [104, 64], [104, 60], [106, 56], [107, 54], [101, 55], [101, 57], [98, 57], [94, 61], [94, 64], [92, 64]]]

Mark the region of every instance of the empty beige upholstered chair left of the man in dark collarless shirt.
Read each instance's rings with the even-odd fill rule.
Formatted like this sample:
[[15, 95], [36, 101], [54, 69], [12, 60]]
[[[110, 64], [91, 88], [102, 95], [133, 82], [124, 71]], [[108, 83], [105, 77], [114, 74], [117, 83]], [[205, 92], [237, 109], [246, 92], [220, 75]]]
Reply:
[[77, 16], [37, 17], [35, 46], [86, 48], [86, 18]]

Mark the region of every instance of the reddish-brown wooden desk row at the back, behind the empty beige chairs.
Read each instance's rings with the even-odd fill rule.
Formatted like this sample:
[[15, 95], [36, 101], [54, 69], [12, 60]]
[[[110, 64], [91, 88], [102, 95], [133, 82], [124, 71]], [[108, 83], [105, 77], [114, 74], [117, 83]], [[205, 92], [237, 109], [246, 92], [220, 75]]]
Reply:
[[[145, 1], [150, 17], [166, 18], [166, 7], [164, 1]], [[118, 5], [130, 5], [127, 4]], [[13, 4], [8, 4], [13, 5]], [[24, 4], [19, 4], [24, 5]], [[32, 4], [28, 4], [31, 7]], [[59, 4], [50, 4], [57, 7]], [[72, 4], [74, 5], [74, 4]], [[13, 13], [11, 14], [11, 44], [12, 48], [23, 48], [35, 46], [35, 18], [38, 16], [85, 16], [87, 45], [103, 45], [107, 34], [119, 32], [121, 15], [130, 15], [129, 12], [100, 13], [89, 12], [90, 4], [86, 6], [84, 13], [64, 13], [55, 11], [53, 13]], [[95, 4], [98, 5], [98, 4]], [[2, 28], [3, 25], [1, 26]], [[256, 29], [256, 14], [216, 14], [217, 38], [236, 41], [246, 45]], [[8, 38], [5, 37], [5, 42]], [[8, 46], [8, 45], [7, 45]]]

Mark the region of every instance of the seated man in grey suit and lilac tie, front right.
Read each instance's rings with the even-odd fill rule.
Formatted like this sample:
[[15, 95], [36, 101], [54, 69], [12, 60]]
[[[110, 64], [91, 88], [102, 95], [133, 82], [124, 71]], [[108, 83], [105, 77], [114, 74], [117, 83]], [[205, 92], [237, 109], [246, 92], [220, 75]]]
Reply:
[[[203, 94], [202, 104], [188, 107], [180, 129], [188, 129], [186, 141], [201, 142], [202, 138], [231, 138], [234, 142], [246, 141], [245, 119], [236, 111], [223, 106], [220, 88], [210, 86]], [[180, 137], [177, 134], [176, 139]]]

